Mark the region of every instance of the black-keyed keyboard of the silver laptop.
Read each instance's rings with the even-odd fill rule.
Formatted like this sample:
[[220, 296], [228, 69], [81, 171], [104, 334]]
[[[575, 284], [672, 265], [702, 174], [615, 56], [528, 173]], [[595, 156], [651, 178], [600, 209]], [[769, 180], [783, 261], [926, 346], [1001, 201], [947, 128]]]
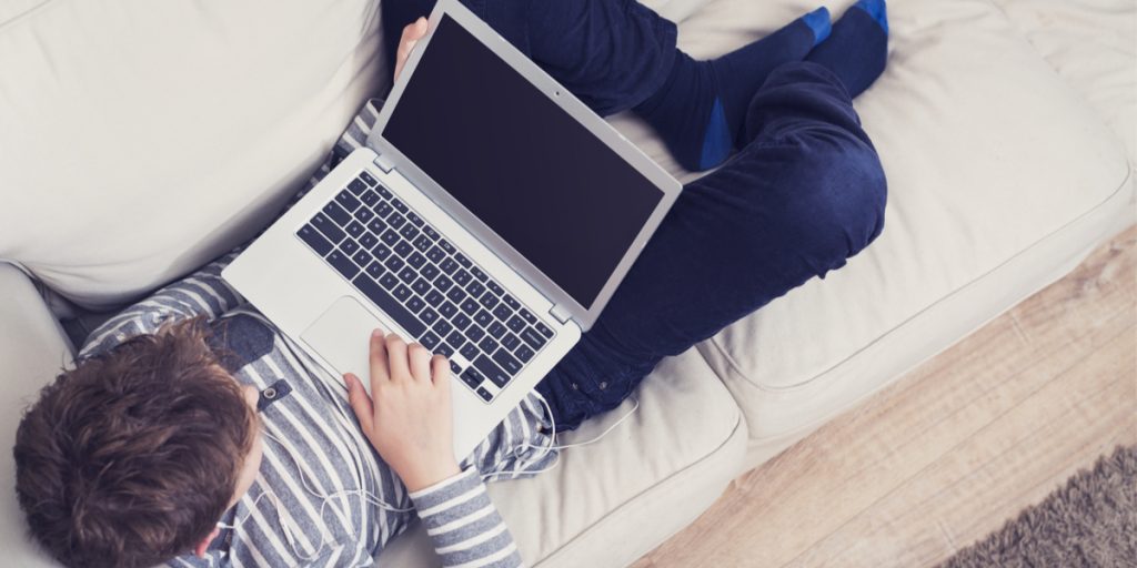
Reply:
[[366, 172], [297, 236], [489, 402], [553, 329]]

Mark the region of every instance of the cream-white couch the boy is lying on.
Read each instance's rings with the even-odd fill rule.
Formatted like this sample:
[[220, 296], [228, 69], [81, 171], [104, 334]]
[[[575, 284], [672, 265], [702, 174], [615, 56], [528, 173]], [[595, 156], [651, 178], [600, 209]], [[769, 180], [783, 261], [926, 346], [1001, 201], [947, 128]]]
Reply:
[[[654, 0], [713, 56], [815, 7]], [[840, 15], [850, 3], [829, 5]], [[491, 493], [542, 567], [624, 566], [733, 477], [1061, 277], [1132, 224], [1137, 5], [893, 0], [882, 77], [856, 101], [889, 182], [883, 235], [688, 352], [640, 409]], [[388, 70], [377, 0], [0, 3], [0, 440], [70, 364], [82, 323], [249, 237]], [[628, 116], [631, 140], [682, 179]], [[565, 436], [589, 438], [611, 412]], [[28, 544], [0, 459], [0, 563]], [[421, 532], [384, 566], [430, 566]]]

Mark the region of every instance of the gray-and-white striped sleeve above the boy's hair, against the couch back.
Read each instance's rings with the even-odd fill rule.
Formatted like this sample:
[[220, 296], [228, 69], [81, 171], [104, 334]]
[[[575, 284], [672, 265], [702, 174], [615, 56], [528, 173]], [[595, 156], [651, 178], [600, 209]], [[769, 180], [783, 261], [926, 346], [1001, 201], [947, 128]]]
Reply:
[[242, 249], [239, 247], [230, 251], [108, 319], [88, 335], [76, 359], [109, 350], [128, 337], [155, 333], [167, 323], [200, 315], [213, 320], [244, 303], [244, 298], [221, 277], [222, 269]]

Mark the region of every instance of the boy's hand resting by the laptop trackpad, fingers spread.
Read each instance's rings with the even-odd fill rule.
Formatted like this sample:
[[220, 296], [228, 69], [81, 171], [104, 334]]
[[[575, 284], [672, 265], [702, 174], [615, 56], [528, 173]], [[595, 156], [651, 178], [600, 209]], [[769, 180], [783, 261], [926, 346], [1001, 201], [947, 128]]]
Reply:
[[450, 366], [398, 335], [371, 335], [371, 393], [359, 377], [343, 375], [348, 400], [364, 435], [410, 491], [460, 471], [454, 459]]

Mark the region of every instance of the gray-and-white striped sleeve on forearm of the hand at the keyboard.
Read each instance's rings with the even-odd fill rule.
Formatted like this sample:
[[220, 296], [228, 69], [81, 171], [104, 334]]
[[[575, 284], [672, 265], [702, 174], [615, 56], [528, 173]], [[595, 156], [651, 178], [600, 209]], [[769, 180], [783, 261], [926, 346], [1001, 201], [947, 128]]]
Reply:
[[475, 468], [410, 493], [410, 500], [446, 568], [524, 566]]

